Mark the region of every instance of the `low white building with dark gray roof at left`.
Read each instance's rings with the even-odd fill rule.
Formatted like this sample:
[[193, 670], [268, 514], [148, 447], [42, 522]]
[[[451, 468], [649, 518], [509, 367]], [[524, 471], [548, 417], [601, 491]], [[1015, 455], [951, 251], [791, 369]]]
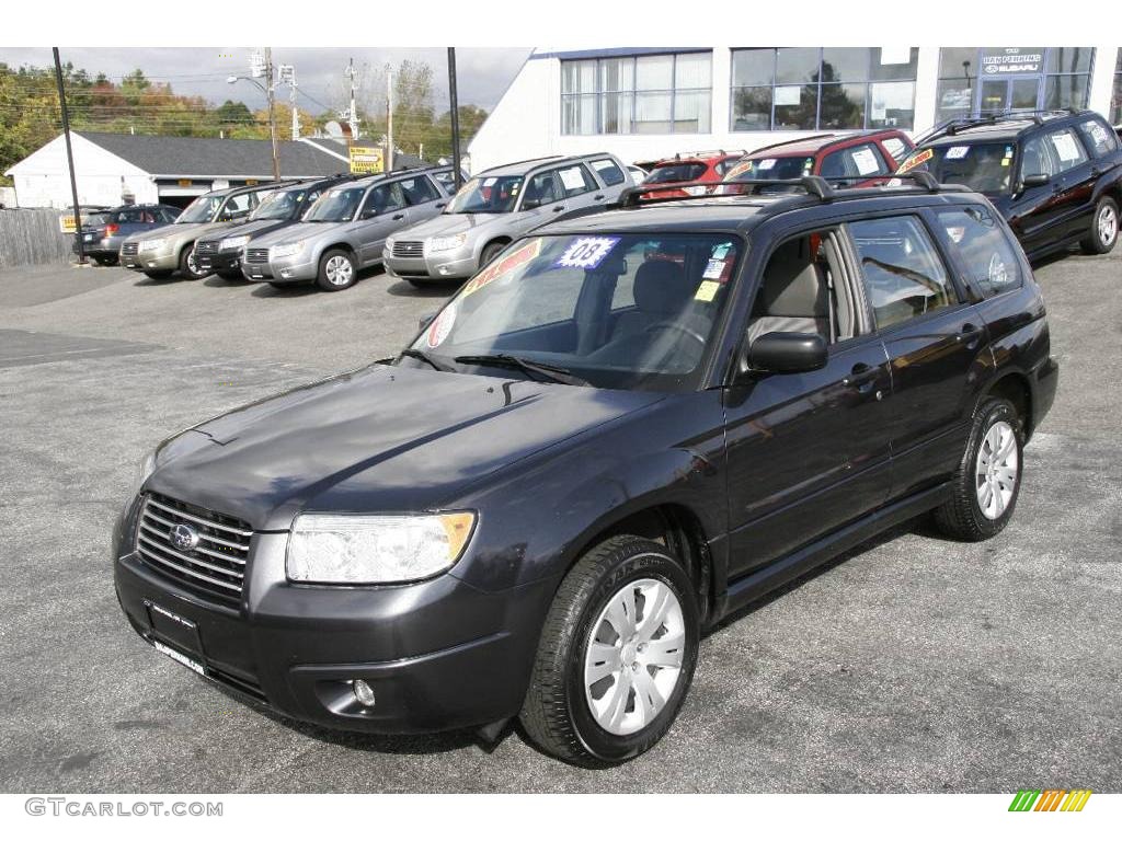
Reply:
[[[273, 146], [268, 140], [224, 140], [72, 131], [79, 204], [110, 207], [137, 204], [186, 206], [211, 190], [273, 179]], [[279, 144], [280, 175], [314, 177], [350, 167], [344, 141], [323, 138]], [[15, 164], [16, 202], [9, 206], [70, 207], [66, 141], [59, 135]]]

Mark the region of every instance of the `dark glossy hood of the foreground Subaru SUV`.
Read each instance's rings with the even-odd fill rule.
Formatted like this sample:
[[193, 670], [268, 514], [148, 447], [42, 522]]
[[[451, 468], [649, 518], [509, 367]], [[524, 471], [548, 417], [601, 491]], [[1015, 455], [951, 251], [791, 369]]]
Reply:
[[169, 449], [147, 487], [261, 530], [287, 529], [302, 510], [449, 507], [518, 460], [660, 399], [371, 366], [194, 427], [193, 449]]

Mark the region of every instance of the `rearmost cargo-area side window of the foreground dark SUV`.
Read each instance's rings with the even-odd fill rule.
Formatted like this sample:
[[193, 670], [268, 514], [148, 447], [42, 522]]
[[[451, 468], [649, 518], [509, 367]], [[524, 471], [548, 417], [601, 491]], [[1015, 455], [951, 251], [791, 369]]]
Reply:
[[937, 211], [938, 232], [966, 283], [991, 298], [1022, 283], [1021, 264], [993, 212], [982, 205]]

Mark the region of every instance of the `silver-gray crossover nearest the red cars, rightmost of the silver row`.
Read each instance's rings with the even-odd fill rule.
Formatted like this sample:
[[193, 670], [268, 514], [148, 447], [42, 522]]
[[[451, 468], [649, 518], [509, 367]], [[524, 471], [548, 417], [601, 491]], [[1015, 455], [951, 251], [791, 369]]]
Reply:
[[389, 238], [383, 260], [414, 286], [468, 278], [532, 228], [611, 204], [633, 184], [607, 153], [504, 164], [465, 184], [435, 219]]

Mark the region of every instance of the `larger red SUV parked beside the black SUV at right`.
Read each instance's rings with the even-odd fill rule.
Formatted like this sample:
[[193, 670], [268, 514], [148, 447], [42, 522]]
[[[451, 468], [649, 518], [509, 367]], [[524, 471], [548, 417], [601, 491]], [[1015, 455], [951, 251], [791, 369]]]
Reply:
[[[891, 175], [914, 148], [908, 135], [899, 129], [815, 135], [764, 146], [745, 155], [728, 167], [724, 181], [820, 175], [837, 186], [852, 186], [865, 178]], [[853, 181], [847, 182], [848, 178]]]

